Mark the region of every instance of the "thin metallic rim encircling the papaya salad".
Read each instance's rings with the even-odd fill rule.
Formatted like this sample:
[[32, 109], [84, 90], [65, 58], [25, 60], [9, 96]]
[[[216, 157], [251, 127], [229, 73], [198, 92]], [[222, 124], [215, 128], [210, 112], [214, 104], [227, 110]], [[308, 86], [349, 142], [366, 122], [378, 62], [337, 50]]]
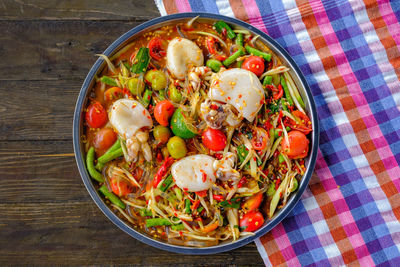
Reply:
[[112, 221], [116, 226], [118, 226], [122, 231], [125, 233], [129, 234], [130, 236], [134, 237], [135, 239], [170, 252], [176, 252], [176, 253], [182, 253], [182, 254], [192, 254], [192, 255], [205, 255], [205, 254], [215, 254], [215, 253], [220, 253], [220, 252], [225, 252], [229, 250], [233, 250], [239, 247], [242, 247], [244, 245], [247, 245], [248, 243], [252, 242], [256, 238], [261, 237], [262, 235], [266, 234], [269, 232], [272, 228], [274, 228], [278, 223], [280, 223], [295, 207], [297, 202], [300, 200], [300, 197], [303, 195], [306, 187], [308, 186], [308, 183], [310, 181], [311, 175], [314, 171], [314, 167], [316, 164], [316, 159], [317, 159], [317, 152], [318, 152], [318, 145], [319, 145], [319, 123], [318, 123], [318, 116], [317, 116], [317, 109], [315, 105], [314, 98], [311, 94], [311, 90], [307, 84], [307, 81], [302, 74], [300, 68], [297, 66], [293, 58], [286, 52], [286, 50], [277, 42], [275, 41], [272, 37], [267, 35], [266, 33], [262, 32], [261, 30], [255, 28], [254, 26], [243, 22], [241, 20], [238, 20], [236, 18], [232, 17], [227, 17], [219, 14], [212, 14], [212, 13], [203, 13], [203, 12], [186, 12], [186, 13], [177, 13], [177, 14], [172, 14], [172, 15], [167, 15], [163, 17], [157, 17], [152, 20], [149, 20], [147, 22], [144, 22], [131, 30], [127, 31], [123, 35], [121, 35], [118, 39], [116, 39], [105, 51], [104, 55], [110, 55], [111, 53], [114, 52], [115, 49], [117, 49], [123, 42], [127, 41], [131, 36], [135, 35], [136, 33], [145, 30], [148, 27], [154, 26], [159, 23], [167, 22], [170, 20], [177, 20], [177, 19], [184, 19], [184, 18], [193, 18], [199, 16], [200, 18], [206, 18], [206, 19], [214, 19], [214, 20], [219, 20], [222, 19], [228, 23], [233, 23], [238, 26], [247, 28], [250, 30], [252, 33], [260, 35], [262, 38], [267, 40], [269, 42], [268, 46], [273, 46], [275, 50], [279, 51], [280, 55], [278, 56], [283, 56], [285, 60], [291, 64], [291, 67], [293, 68], [293, 71], [297, 74], [300, 82], [302, 83], [304, 87], [304, 92], [307, 96], [309, 107], [310, 107], [310, 115], [311, 115], [311, 121], [313, 124], [313, 132], [311, 135], [311, 140], [312, 140], [312, 149], [310, 152], [310, 158], [309, 158], [309, 166], [308, 169], [306, 170], [305, 174], [303, 175], [302, 181], [300, 183], [298, 191], [291, 197], [291, 199], [286, 203], [286, 206], [280, 210], [280, 212], [273, 217], [268, 224], [264, 225], [261, 227], [259, 230], [255, 232], [255, 235], [253, 236], [248, 236], [242, 239], [239, 239], [234, 242], [228, 242], [228, 243], [222, 243], [216, 246], [211, 246], [211, 247], [203, 247], [203, 248], [198, 248], [198, 247], [183, 247], [183, 246], [177, 246], [173, 244], [169, 244], [166, 242], [158, 241], [156, 239], [153, 239], [145, 234], [140, 233], [139, 231], [136, 231], [133, 227], [128, 225], [126, 222], [124, 222], [122, 219], [120, 219], [114, 212], [111, 211], [111, 209], [104, 203], [103, 199], [100, 197], [99, 193], [97, 192], [96, 188], [94, 187], [92, 180], [89, 177], [89, 174], [86, 170], [85, 167], [85, 160], [81, 151], [81, 138], [80, 138], [80, 123], [82, 120], [82, 114], [83, 114], [83, 105], [85, 104], [86, 101], [86, 95], [88, 90], [91, 89], [91, 83], [92, 80], [94, 79], [94, 76], [98, 72], [99, 68], [103, 64], [103, 59], [99, 58], [96, 60], [96, 62], [93, 64], [91, 67], [89, 73], [87, 74], [82, 87], [80, 89], [78, 99], [76, 102], [75, 106], [75, 112], [74, 112], [74, 120], [73, 120], [73, 147], [74, 147], [74, 154], [75, 154], [75, 159], [76, 163], [78, 165], [78, 170], [81, 175], [82, 181], [89, 192], [91, 198], [93, 201], [96, 203], [96, 205], [100, 208], [100, 210], [104, 213], [104, 215]]

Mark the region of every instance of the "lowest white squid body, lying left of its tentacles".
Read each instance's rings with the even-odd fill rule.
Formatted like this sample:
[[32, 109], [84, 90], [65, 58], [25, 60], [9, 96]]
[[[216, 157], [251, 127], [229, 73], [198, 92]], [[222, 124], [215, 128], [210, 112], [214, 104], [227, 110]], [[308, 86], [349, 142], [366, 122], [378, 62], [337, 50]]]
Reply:
[[208, 190], [215, 182], [214, 158], [204, 154], [185, 157], [171, 167], [176, 185], [184, 191]]

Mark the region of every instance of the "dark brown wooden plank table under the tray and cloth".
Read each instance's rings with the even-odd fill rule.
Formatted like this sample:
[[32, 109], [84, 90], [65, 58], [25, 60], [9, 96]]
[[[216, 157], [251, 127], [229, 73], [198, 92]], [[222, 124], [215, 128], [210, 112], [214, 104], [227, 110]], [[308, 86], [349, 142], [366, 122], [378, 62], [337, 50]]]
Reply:
[[79, 176], [72, 117], [81, 84], [117, 37], [159, 16], [153, 1], [0, 0], [0, 265], [262, 265], [254, 243], [210, 256], [136, 241]]

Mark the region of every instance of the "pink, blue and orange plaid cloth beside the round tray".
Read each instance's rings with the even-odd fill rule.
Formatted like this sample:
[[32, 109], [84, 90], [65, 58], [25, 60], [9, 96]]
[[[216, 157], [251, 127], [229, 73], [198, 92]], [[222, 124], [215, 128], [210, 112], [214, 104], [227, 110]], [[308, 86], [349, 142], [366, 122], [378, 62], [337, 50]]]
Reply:
[[400, 0], [156, 0], [161, 15], [239, 18], [277, 40], [314, 95], [315, 174], [256, 241], [266, 265], [400, 266]]

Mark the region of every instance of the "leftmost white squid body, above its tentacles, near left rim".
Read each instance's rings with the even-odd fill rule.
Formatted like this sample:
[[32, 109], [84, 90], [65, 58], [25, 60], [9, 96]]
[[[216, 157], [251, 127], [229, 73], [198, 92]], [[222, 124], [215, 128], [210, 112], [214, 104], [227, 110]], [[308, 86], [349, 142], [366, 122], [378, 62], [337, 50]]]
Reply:
[[123, 139], [130, 139], [143, 128], [153, 126], [149, 111], [138, 101], [119, 99], [109, 112], [110, 123]]

